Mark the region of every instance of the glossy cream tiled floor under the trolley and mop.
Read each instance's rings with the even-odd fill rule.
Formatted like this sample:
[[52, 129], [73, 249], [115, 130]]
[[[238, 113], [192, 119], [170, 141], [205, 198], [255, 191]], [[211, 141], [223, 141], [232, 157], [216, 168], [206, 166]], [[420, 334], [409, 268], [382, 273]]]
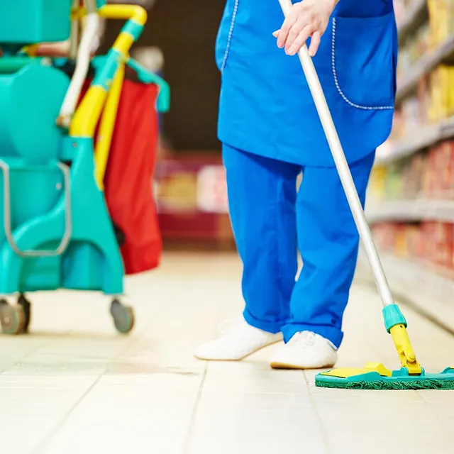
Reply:
[[[240, 311], [239, 276], [233, 256], [166, 255], [128, 281], [138, 323], [126, 337], [102, 296], [35, 295], [33, 334], [0, 337], [0, 452], [453, 453], [454, 392], [319, 389], [315, 372], [270, 370], [272, 348], [193, 359]], [[454, 365], [454, 337], [404, 311], [426, 369]], [[345, 331], [340, 365], [398, 366], [372, 289], [353, 288]]]

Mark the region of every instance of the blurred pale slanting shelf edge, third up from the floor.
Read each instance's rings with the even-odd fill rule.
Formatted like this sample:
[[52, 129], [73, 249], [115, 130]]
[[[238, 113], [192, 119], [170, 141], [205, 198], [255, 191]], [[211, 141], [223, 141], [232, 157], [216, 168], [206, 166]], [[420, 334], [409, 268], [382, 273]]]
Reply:
[[419, 150], [431, 147], [442, 140], [454, 137], [454, 117], [447, 118], [436, 125], [425, 126], [409, 138], [387, 143], [377, 150], [376, 164], [389, 164], [395, 160], [409, 157]]

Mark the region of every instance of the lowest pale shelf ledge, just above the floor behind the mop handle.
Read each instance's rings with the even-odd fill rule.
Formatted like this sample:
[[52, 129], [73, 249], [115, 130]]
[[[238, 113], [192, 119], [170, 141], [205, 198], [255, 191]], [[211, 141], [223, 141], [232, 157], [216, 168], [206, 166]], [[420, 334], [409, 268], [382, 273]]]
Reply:
[[[409, 304], [447, 331], [454, 331], [454, 272], [417, 260], [381, 253], [389, 286], [399, 303]], [[374, 279], [363, 250], [358, 258], [357, 282], [373, 285]]]

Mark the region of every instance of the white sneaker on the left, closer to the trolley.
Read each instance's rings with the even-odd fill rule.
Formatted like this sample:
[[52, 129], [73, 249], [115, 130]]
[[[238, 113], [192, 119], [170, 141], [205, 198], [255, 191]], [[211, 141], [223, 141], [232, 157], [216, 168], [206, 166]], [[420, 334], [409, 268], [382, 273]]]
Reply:
[[282, 341], [282, 333], [267, 333], [250, 326], [242, 318], [220, 338], [196, 348], [194, 356], [199, 360], [239, 361], [279, 341]]

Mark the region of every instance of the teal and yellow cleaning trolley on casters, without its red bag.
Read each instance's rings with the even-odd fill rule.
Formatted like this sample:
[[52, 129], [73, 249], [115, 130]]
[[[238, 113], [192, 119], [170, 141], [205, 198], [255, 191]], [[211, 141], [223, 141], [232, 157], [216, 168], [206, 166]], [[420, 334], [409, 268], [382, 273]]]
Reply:
[[[133, 328], [133, 309], [120, 300], [125, 266], [104, 178], [126, 67], [140, 82], [157, 86], [157, 103], [150, 109], [166, 111], [169, 92], [162, 79], [129, 57], [146, 11], [105, 3], [0, 0], [4, 333], [28, 330], [28, 294], [56, 289], [104, 292], [112, 298], [116, 329], [128, 333]], [[126, 23], [107, 55], [93, 57], [100, 18]], [[67, 58], [36, 57], [33, 52], [39, 43], [67, 40]], [[134, 150], [128, 153], [133, 159]], [[17, 304], [6, 300], [11, 295], [18, 295]]]

